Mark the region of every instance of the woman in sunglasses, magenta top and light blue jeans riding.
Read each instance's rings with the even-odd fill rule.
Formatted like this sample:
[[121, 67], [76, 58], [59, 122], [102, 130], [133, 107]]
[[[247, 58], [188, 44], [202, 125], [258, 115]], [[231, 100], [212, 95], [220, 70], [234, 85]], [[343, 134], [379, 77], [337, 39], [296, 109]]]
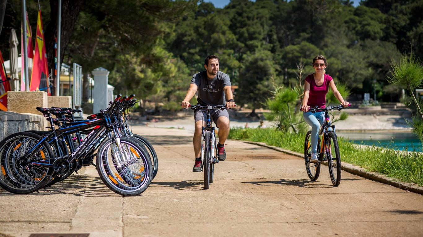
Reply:
[[313, 68], [315, 73], [308, 75], [304, 83], [304, 99], [302, 100], [301, 109], [304, 111], [304, 120], [311, 126], [311, 159], [310, 162], [318, 162], [317, 142], [319, 139], [319, 129], [324, 121], [324, 111], [311, 113], [308, 109], [318, 107], [326, 107], [326, 94], [330, 89], [336, 99], [341, 102], [344, 107], [349, 106], [349, 102], [342, 98], [341, 93], [335, 86], [332, 77], [326, 73], [327, 60], [323, 55], [317, 55], [313, 59]]

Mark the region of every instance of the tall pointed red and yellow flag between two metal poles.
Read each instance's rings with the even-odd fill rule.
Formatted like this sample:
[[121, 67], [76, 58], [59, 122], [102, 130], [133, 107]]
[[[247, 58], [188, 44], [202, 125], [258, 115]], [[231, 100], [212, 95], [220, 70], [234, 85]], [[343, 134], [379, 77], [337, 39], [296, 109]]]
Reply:
[[32, 91], [45, 91], [48, 95], [49, 92], [49, 70], [47, 68], [47, 53], [46, 44], [44, 42], [43, 20], [41, 19], [41, 9], [38, 11], [37, 19], [37, 33], [35, 40], [35, 54], [34, 66], [32, 69], [31, 83], [29, 90]]

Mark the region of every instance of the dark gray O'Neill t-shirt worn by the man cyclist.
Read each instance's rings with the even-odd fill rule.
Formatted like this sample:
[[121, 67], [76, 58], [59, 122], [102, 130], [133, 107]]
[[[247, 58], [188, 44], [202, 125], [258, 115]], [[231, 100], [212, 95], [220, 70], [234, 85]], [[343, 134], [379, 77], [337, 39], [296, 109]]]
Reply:
[[192, 76], [191, 83], [198, 87], [198, 103], [211, 106], [224, 105], [225, 92], [223, 87], [231, 86], [229, 76], [221, 71], [218, 71], [212, 80], [207, 78], [206, 70], [196, 73]]

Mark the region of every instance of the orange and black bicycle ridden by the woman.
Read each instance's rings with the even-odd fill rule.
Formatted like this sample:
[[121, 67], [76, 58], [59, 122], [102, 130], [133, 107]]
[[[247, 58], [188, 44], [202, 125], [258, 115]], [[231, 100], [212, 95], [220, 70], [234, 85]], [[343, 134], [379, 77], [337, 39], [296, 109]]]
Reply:
[[[351, 105], [351, 104], [350, 104]], [[335, 133], [335, 125], [332, 125], [333, 115], [331, 110], [342, 110], [343, 105], [337, 105], [326, 108], [309, 108], [308, 111], [315, 113], [324, 111], [324, 121], [319, 131], [319, 141], [317, 143], [318, 162], [310, 162], [311, 158], [311, 130], [305, 135], [304, 142], [304, 161], [305, 169], [310, 180], [317, 180], [320, 175], [320, 164], [326, 162], [329, 167], [330, 180], [333, 186], [341, 183], [341, 156], [339, 153], [338, 139]], [[330, 118], [332, 116], [332, 119]]]

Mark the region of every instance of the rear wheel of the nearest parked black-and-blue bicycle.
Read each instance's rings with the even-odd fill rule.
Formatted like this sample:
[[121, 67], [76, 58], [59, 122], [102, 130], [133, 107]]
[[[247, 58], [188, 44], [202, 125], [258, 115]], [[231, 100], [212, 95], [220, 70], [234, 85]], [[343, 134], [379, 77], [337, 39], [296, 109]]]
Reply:
[[[54, 160], [50, 145], [41, 136], [32, 132], [18, 132], [6, 137], [0, 143], [0, 186], [14, 194], [29, 194], [45, 186], [50, 181], [52, 167], [25, 165], [25, 159], [39, 164], [52, 164]], [[35, 147], [35, 145], [38, 146]], [[27, 151], [35, 148], [32, 156], [24, 157]]]

